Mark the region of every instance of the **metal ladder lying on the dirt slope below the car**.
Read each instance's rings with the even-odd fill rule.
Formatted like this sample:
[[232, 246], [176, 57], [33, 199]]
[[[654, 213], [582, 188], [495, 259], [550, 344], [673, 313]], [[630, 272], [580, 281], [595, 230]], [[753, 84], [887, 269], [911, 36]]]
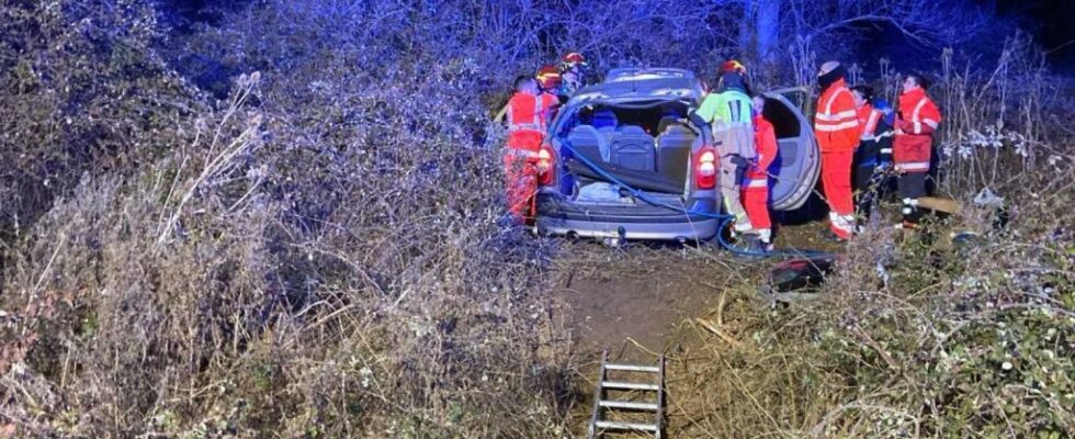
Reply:
[[[614, 375], [614, 376], [613, 376]], [[641, 382], [640, 376], [648, 380]], [[633, 378], [633, 380], [632, 380]], [[611, 391], [611, 392], [610, 392]], [[609, 394], [620, 394], [621, 397], [656, 394], [643, 402], [612, 399]], [[614, 412], [626, 412], [653, 416], [653, 423], [623, 421], [609, 419], [607, 415]], [[601, 370], [597, 376], [597, 390], [593, 393], [593, 414], [590, 416], [588, 439], [602, 437], [606, 432], [643, 432], [660, 439], [664, 435], [665, 415], [665, 356], [661, 354], [656, 365], [637, 365], [610, 363], [609, 351], [601, 352]]]

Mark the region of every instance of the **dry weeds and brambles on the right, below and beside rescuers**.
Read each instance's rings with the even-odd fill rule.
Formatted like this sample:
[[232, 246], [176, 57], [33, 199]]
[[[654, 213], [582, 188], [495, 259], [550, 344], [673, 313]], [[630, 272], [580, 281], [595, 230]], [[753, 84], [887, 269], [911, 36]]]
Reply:
[[[759, 301], [756, 278], [724, 291], [709, 316], [720, 334], [699, 329], [706, 342], [671, 358], [672, 373], [683, 376], [671, 389], [674, 432], [1060, 438], [1075, 431], [1075, 191], [1070, 179], [1057, 178], [1072, 175], [1071, 137], [1052, 125], [1059, 114], [1048, 90], [1055, 85], [1036, 70], [1040, 65], [1031, 74], [1015, 70], [1020, 41], [1014, 42], [996, 75], [982, 82], [951, 77], [932, 91], [942, 105], [952, 102], [942, 109], [951, 124], [944, 142], [971, 142], [968, 133], [1002, 114], [1016, 133], [944, 158], [940, 189], [957, 195], [961, 213], [933, 219], [929, 235], [906, 240], [891, 228], [871, 228], [852, 240], [816, 295], [787, 306]], [[995, 228], [995, 206], [973, 203], [983, 188], [1005, 199], [1007, 228]], [[953, 245], [949, 233], [961, 230], [981, 237]]]

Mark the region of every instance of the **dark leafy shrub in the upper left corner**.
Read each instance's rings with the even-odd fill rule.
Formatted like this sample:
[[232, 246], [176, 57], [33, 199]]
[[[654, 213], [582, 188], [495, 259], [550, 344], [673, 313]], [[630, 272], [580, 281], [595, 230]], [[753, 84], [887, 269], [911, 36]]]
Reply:
[[199, 94], [155, 50], [146, 2], [15, 1], [0, 7], [0, 230], [29, 229], [82, 172], [151, 162]]

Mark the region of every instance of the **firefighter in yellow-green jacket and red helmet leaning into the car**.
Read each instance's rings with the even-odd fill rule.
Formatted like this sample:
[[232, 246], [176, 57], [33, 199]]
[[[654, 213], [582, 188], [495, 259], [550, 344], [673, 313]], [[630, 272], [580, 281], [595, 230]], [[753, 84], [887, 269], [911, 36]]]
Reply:
[[754, 228], [739, 200], [743, 175], [756, 155], [746, 71], [734, 59], [721, 65], [716, 92], [708, 94], [690, 115], [697, 125], [712, 126], [713, 143], [721, 156], [721, 198], [724, 210], [735, 217], [734, 234]]

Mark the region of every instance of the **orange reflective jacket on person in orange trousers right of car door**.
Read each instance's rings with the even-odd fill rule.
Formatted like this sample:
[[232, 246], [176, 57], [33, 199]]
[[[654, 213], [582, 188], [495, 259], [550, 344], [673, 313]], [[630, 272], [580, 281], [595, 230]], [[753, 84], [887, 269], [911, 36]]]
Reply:
[[850, 151], [859, 143], [855, 99], [844, 79], [837, 79], [817, 99], [814, 133], [822, 153]]

